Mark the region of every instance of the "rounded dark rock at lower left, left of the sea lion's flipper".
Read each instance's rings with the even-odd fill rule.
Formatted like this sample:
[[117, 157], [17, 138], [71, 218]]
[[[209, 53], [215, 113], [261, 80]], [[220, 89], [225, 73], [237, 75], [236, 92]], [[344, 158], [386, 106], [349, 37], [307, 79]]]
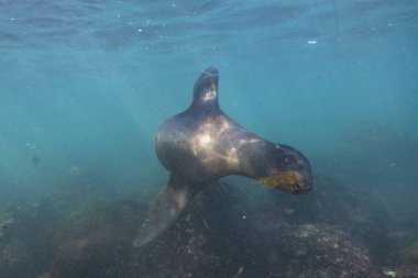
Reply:
[[52, 277], [121, 277], [144, 211], [132, 201], [101, 202], [74, 211], [54, 235]]

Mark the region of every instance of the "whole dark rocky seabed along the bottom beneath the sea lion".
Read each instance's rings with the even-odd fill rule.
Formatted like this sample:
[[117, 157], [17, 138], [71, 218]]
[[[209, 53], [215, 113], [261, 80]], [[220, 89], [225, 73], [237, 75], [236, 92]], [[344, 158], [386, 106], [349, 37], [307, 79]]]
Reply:
[[[414, 277], [414, 265], [383, 267], [382, 256], [376, 256], [383, 249], [378, 243], [386, 240], [382, 222], [386, 214], [376, 218], [377, 207], [358, 190], [339, 186], [338, 196], [331, 180], [317, 181], [318, 191], [302, 198], [275, 194], [273, 210], [251, 204], [256, 200], [239, 186], [219, 182], [196, 196], [179, 221], [141, 248], [134, 248], [132, 241], [146, 208], [131, 200], [84, 205], [64, 220], [51, 216], [54, 224], [13, 215], [13, 221], [3, 221], [16, 230], [6, 230], [0, 238], [0, 251], [7, 254], [0, 255], [0, 270], [6, 264], [13, 268], [1, 275], [373, 278], [395, 271], [396, 277]], [[32, 234], [30, 244], [23, 236], [30, 225], [47, 233]], [[388, 249], [391, 243], [385, 246]], [[43, 258], [50, 258], [48, 267], [32, 269], [32, 276], [12, 275], [13, 269], [37, 262], [36, 249], [52, 251]]]

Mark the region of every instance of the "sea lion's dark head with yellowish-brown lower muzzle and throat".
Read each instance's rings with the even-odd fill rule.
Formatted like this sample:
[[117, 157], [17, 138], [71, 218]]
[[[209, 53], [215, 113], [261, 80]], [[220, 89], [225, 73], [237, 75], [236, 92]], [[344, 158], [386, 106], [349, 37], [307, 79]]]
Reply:
[[297, 194], [312, 188], [312, 175], [309, 160], [298, 151], [286, 145], [276, 145], [272, 174], [260, 177], [256, 182]]

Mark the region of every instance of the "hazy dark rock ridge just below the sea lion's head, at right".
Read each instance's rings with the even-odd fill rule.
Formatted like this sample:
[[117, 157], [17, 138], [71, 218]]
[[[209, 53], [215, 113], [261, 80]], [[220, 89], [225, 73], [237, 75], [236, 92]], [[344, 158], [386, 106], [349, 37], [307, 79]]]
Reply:
[[391, 253], [395, 246], [388, 236], [393, 215], [365, 190], [316, 176], [315, 190], [307, 196], [272, 193], [277, 209], [264, 212], [264, 215], [272, 214], [270, 218], [290, 224], [343, 227], [359, 244], [367, 246], [376, 260], [391, 262], [397, 255]]

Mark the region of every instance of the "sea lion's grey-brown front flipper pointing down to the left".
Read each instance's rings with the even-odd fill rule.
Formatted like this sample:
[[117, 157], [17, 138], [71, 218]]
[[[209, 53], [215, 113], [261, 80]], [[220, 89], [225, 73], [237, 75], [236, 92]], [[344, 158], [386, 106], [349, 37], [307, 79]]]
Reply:
[[197, 187], [195, 185], [189, 186], [186, 179], [180, 179], [172, 174], [167, 186], [151, 204], [133, 246], [145, 245], [175, 222], [196, 192], [196, 190], [191, 190], [193, 188]]

